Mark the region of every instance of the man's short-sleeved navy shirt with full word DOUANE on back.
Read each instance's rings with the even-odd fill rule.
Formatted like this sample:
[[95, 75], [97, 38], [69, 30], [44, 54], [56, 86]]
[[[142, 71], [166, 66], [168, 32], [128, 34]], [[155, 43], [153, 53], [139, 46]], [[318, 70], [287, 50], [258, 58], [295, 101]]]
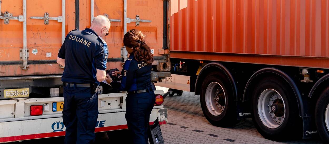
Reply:
[[58, 57], [65, 59], [63, 82], [99, 84], [96, 69], [106, 69], [108, 48], [92, 29], [73, 30], [67, 34]]

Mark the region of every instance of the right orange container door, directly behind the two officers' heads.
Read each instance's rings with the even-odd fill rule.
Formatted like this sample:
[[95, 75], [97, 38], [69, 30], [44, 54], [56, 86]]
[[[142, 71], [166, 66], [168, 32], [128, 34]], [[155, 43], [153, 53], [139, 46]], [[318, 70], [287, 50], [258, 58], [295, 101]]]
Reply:
[[[109, 46], [109, 59], [116, 61], [122, 58], [121, 48], [123, 47], [125, 22], [127, 22], [127, 31], [139, 29], [146, 35], [146, 43], [152, 49], [155, 57], [162, 56], [158, 54], [158, 50], [163, 48], [164, 1], [129, 0], [126, 2], [126, 17], [124, 17], [124, 3], [124, 0], [94, 1], [94, 16], [105, 14], [111, 20], [110, 35], [104, 38]], [[124, 19], [126, 19], [126, 21]], [[80, 21], [80, 23], [85, 22]], [[83, 28], [89, 27], [90, 22], [80, 25], [80, 28], [81, 26], [83, 26]]]

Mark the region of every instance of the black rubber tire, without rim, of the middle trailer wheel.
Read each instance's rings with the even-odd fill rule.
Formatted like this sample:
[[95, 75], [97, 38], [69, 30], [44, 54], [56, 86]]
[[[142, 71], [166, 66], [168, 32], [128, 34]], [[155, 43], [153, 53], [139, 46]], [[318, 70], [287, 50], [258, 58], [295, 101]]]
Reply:
[[[282, 123], [277, 128], [268, 128], [261, 120], [258, 113], [258, 100], [266, 89], [276, 90], [282, 97], [285, 106], [285, 115]], [[258, 132], [267, 139], [284, 141], [301, 138], [302, 119], [299, 117], [296, 96], [287, 82], [277, 77], [268, 77], [259, 81], [252, 95], [252, 120]]]

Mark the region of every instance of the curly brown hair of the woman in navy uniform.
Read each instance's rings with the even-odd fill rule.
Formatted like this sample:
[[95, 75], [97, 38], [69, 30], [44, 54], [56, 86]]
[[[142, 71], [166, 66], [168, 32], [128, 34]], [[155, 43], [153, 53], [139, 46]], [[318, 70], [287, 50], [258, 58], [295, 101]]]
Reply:
[[123, 44], [133, 49], [135, 60], [143, 61], [147, 65], [153, 63], [150, 47], [145, 43], [145, 35], [137, 29], [128, 31], [123, 37]]

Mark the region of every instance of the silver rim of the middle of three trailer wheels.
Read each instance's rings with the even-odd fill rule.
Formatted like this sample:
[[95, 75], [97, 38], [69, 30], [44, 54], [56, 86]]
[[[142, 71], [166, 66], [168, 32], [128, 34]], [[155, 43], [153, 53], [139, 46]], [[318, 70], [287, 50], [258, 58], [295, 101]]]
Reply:
[[285, 102], [274, 89], [266, 89], [261, 93], [257, 108], [261, 121], [270, 129], [278, 128], [286, 117]]

